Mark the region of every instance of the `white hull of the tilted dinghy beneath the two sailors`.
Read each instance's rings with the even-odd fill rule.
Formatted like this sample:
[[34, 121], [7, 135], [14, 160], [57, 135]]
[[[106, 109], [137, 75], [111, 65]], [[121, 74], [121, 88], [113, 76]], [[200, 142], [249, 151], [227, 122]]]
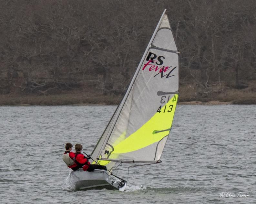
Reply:
[[75, 182], [76, 190], [108, 189], [124, 191], [126, 183], [120, 186], [120, 182], [113, 179], [104, 170], [95, 169], [93, 172], [79, 169], [70, 173], [71, 180]]

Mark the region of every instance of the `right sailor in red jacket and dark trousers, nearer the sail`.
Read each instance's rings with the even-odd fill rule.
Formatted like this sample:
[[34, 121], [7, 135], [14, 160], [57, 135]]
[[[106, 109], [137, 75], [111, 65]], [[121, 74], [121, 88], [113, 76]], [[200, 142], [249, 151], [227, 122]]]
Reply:
[[83, 150], [83, 146], [81, 144], [76, 144], [75, 148], [76, 148], [76, 153], [74, 156], [74, 161], [77, 164], [78, 168], [82, 168], [84, 171], [87, 171], [87, 172], [92, 172], [94, 169], [107, 170], [106, 166], [102, 166], [102, 165], [98, 165], [98, 164], [91, 164], [88, 161], [88, 159], [90, 157], [87, 158], [87, 157], [85, 157], [85, 155], [83, 155], [81, 153], [81, 151]]

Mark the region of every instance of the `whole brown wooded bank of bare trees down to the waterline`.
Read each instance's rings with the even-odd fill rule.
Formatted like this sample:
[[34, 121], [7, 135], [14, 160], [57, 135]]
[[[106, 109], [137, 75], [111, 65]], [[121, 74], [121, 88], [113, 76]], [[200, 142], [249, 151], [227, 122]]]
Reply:
[[179, 101], [256, 103], [253, 0], [0, 1], [0, 105], [117, 104], [164, 8]]

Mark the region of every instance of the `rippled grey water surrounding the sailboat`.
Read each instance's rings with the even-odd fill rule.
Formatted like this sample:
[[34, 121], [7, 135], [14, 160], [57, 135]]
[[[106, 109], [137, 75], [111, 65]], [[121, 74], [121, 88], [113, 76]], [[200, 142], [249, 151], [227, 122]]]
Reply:
[[0, 203], [256, 202], [255, 105], [178, 106], [161, 164], [130, 168], [125, 192], [75, 191], [64, 145], [90, 153], [114, 110], [0, 107]]

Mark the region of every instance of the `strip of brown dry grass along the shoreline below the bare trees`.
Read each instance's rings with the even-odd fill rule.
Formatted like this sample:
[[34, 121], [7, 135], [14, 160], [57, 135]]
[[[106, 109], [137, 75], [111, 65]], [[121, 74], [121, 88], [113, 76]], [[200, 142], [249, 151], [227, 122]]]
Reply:
[[[248, 90], [229, 89], [211, 95], [203, 95], [180, 88], [178, 104], [256, 104], [256, 93]], [[213, 96], [214, 95], [214, 96]], [[0, 106], [39, 105], [58, 106], [72, 104], [118, 105], [122, 96], [104, 95], [100, 92], [69, 91], [54, 95], [17, 94], [0, 95]]]

